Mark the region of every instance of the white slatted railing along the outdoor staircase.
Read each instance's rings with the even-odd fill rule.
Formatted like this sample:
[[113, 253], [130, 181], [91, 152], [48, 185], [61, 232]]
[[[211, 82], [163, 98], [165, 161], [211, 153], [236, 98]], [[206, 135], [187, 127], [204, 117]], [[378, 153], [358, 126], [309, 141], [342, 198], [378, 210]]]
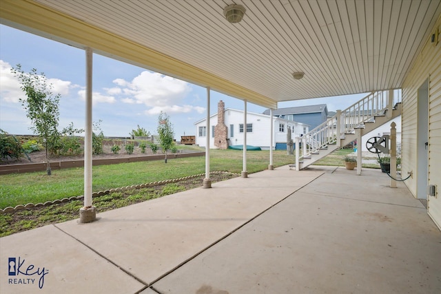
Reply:
[[393, 105], [400, 101], [401, 90], [371, 92], [347, 109], [337, 110], [337, 114], [325, 123], [318, 125], [301, 138], [296, 138], [296, 168], [300, 158], [311, 156], [331, 144], [340, 147], [340, 140], [337, 138], [342, 139], [345, 138], [345, 134], [353, 134], [356, 128], [363, 127], [375, 116], [391, 115], [391, 111], [386, 112], [386, 110], [393, 109]]

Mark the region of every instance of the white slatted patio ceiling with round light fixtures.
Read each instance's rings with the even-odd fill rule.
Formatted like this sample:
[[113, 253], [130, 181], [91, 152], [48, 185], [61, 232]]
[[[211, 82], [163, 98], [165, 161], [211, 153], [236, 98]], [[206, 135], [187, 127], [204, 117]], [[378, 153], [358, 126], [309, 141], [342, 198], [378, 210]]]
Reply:
[[441, 14], [440, 0], [37, 2], [274, 101], [400, 88]]

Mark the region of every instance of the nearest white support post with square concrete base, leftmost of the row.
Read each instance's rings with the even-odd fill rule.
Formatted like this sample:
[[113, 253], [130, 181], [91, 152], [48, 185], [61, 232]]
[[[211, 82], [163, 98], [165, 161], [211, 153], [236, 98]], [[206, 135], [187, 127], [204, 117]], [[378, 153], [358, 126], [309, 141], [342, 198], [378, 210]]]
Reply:
[[92, 55], [92, 48], [86, 48], [84, 207], [80, 209], [79, 222], [81, 223], [96, 220], [96, 209], [92, 206]]

